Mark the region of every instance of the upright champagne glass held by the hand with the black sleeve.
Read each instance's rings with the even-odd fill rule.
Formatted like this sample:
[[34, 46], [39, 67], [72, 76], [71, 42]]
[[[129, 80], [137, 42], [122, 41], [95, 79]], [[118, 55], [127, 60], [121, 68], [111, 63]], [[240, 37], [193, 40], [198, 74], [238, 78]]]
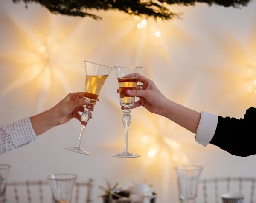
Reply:
[[126, 94], [126, 90], [134, 90], [137, 88], [138, 77], [142, 67], [114, 67], [119, 85], [120, 105], [124, 108], [122, 122], [125, 127], [125, 149], [124, 152], [112, 155], [119, 158], [135, 158], [140, 155], [128, 152], [128, 131], [131, 123], [130, 107], [134, 106], [135, 97]]

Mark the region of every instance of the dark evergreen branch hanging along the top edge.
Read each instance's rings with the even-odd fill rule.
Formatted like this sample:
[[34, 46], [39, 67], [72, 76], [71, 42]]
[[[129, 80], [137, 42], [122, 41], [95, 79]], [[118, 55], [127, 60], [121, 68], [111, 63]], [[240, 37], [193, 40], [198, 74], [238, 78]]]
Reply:
[[179, 4], [194, 6], [195, 3], [207, 3], [209, 6], [216, 4], [224, 7], [241, 8], [248, 6], [252, 0], [12, 0], [14, 3], [24, 2], [26, 8], [29, 3], [39, 3], [54, 14], [92, 17], [95, 20], [101, 17], [88, 13], [88, 10], [119, 10], [127, 14], [145, 15], [148, 17], [161, 17], [173, 19], [180, 14], [171, 12], [167, 6]]

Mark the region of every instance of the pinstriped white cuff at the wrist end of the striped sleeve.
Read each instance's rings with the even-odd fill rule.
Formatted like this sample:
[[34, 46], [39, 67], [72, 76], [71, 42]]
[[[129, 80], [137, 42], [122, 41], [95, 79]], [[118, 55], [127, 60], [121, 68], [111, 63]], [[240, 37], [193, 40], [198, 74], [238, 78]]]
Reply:
[[37, 139], [30, 117], [8, 124], [8, 130], [15, 148], [34, 142]]

